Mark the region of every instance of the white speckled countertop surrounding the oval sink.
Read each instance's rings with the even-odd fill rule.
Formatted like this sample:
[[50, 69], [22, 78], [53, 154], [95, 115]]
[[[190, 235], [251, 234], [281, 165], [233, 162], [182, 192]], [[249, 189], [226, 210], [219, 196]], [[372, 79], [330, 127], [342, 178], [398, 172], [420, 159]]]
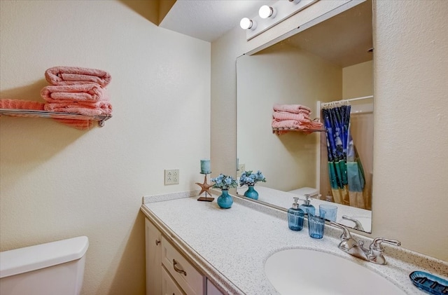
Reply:
[[[141, 210], [224, 294], [278, 294], [265, 275], [265, 261], [281, 249], [298, 247], [332, 253], [363, 265], [407, 294], [424, 294], [409, 280], [414, 270], [448, 276], [446, 261], [388, 245], [384, 247], [387, 265], [356, 259], [338, 249], [339, 229], [325, 226], [323, 239], [316, 240], [309, 237], [306, 221], [302, 231], [290, 231], [286, 212], [238, 197], [228, 210], [218, 207], [216, 200], [199, 202], [197, 197], [160, 201], [169, 198], [174, 197], [144, 197]], [[355, 234], [353, 238], [371, 241]]]

